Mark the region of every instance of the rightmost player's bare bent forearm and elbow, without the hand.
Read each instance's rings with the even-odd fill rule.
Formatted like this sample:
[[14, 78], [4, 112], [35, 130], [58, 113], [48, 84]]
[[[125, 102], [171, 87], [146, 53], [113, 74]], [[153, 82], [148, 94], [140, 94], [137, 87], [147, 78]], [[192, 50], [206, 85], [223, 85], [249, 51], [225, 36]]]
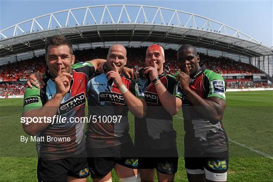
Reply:
[[216, 124], [222, 120], [225, 100], [218, 97], [203, 99], [190, 88], [184, 90], [184, 93], [191, 104], [197, 106], [196, 112], [199, 113], [203, 119], [209, 120], [212, 124]]

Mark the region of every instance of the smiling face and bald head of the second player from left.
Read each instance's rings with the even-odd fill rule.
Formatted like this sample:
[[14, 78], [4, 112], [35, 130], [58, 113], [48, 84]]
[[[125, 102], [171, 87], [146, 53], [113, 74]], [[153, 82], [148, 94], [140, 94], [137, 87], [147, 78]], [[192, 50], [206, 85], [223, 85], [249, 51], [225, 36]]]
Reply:
[[107, 67], [110, 70], [114, 70], [114, 63], [118, 68], [118, 72], [120, 73], [126, 65], [126, 62], [126, 49], [122, 45], [112, 46], [107, 55]]

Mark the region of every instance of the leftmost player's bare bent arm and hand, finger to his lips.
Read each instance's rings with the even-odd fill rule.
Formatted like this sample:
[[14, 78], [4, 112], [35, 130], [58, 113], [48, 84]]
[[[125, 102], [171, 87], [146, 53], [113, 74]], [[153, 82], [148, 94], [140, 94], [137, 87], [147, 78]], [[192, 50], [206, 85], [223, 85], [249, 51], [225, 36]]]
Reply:
[[[64, 95], [70, 90], [72, 76], [66, 72], [61, 72], [61, 65], [59, 65], [58, 76], [55, 78], [56, 84], [56, 94], [55, 96], [45, 103], [41, 108], [36, 110], [29, 110], [23, 113], [23, 117], [39, 117], [41, 119], [41, 123], [23, 123], [24, 131], [29, 135], [36, 135], [45, 128], [47, 128], [51, 123], [45, 122], [44, 117], [53, 117], [56, 115], [58, 108], [61, 104]], [[33, 107], [32, 107], [33, 108]]]

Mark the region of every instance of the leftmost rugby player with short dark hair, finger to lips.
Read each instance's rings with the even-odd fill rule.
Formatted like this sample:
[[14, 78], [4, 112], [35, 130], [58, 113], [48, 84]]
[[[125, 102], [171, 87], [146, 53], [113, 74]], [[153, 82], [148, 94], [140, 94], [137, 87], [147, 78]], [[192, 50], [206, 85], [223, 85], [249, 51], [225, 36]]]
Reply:
[[[48, 71], [43, 88], [28, 88], [24, 93], [23, 117], [47, 117], [51, 122], [23, 123], [24, 131], [36, 138], [38, 181], [86, 181], [89, 175], [86, 160], [84, 123], [70, 118], [84, 117], [86, 86], [96, 70], [91, 63], [77, 64], [71, 69], [75, 56], [71, 43], [55, 35], [45, 44]], [[54, 117], [66, 117], [64, 123]], [[56, 117], [55, 117], [56, 118]], [[71, 120], [74, 121], [74, 120]], [[63, 141], [47, 140], [63, 138]]]

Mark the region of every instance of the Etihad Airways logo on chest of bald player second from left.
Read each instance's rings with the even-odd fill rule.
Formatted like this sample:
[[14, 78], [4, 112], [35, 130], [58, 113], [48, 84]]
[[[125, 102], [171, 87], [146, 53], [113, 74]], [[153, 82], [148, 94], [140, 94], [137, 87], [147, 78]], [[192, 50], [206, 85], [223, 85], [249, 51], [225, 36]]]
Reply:
[[125, 105], [125, 100], [120, 93], [116, 92], [100, 92], [100, 102], [114, 102]]

